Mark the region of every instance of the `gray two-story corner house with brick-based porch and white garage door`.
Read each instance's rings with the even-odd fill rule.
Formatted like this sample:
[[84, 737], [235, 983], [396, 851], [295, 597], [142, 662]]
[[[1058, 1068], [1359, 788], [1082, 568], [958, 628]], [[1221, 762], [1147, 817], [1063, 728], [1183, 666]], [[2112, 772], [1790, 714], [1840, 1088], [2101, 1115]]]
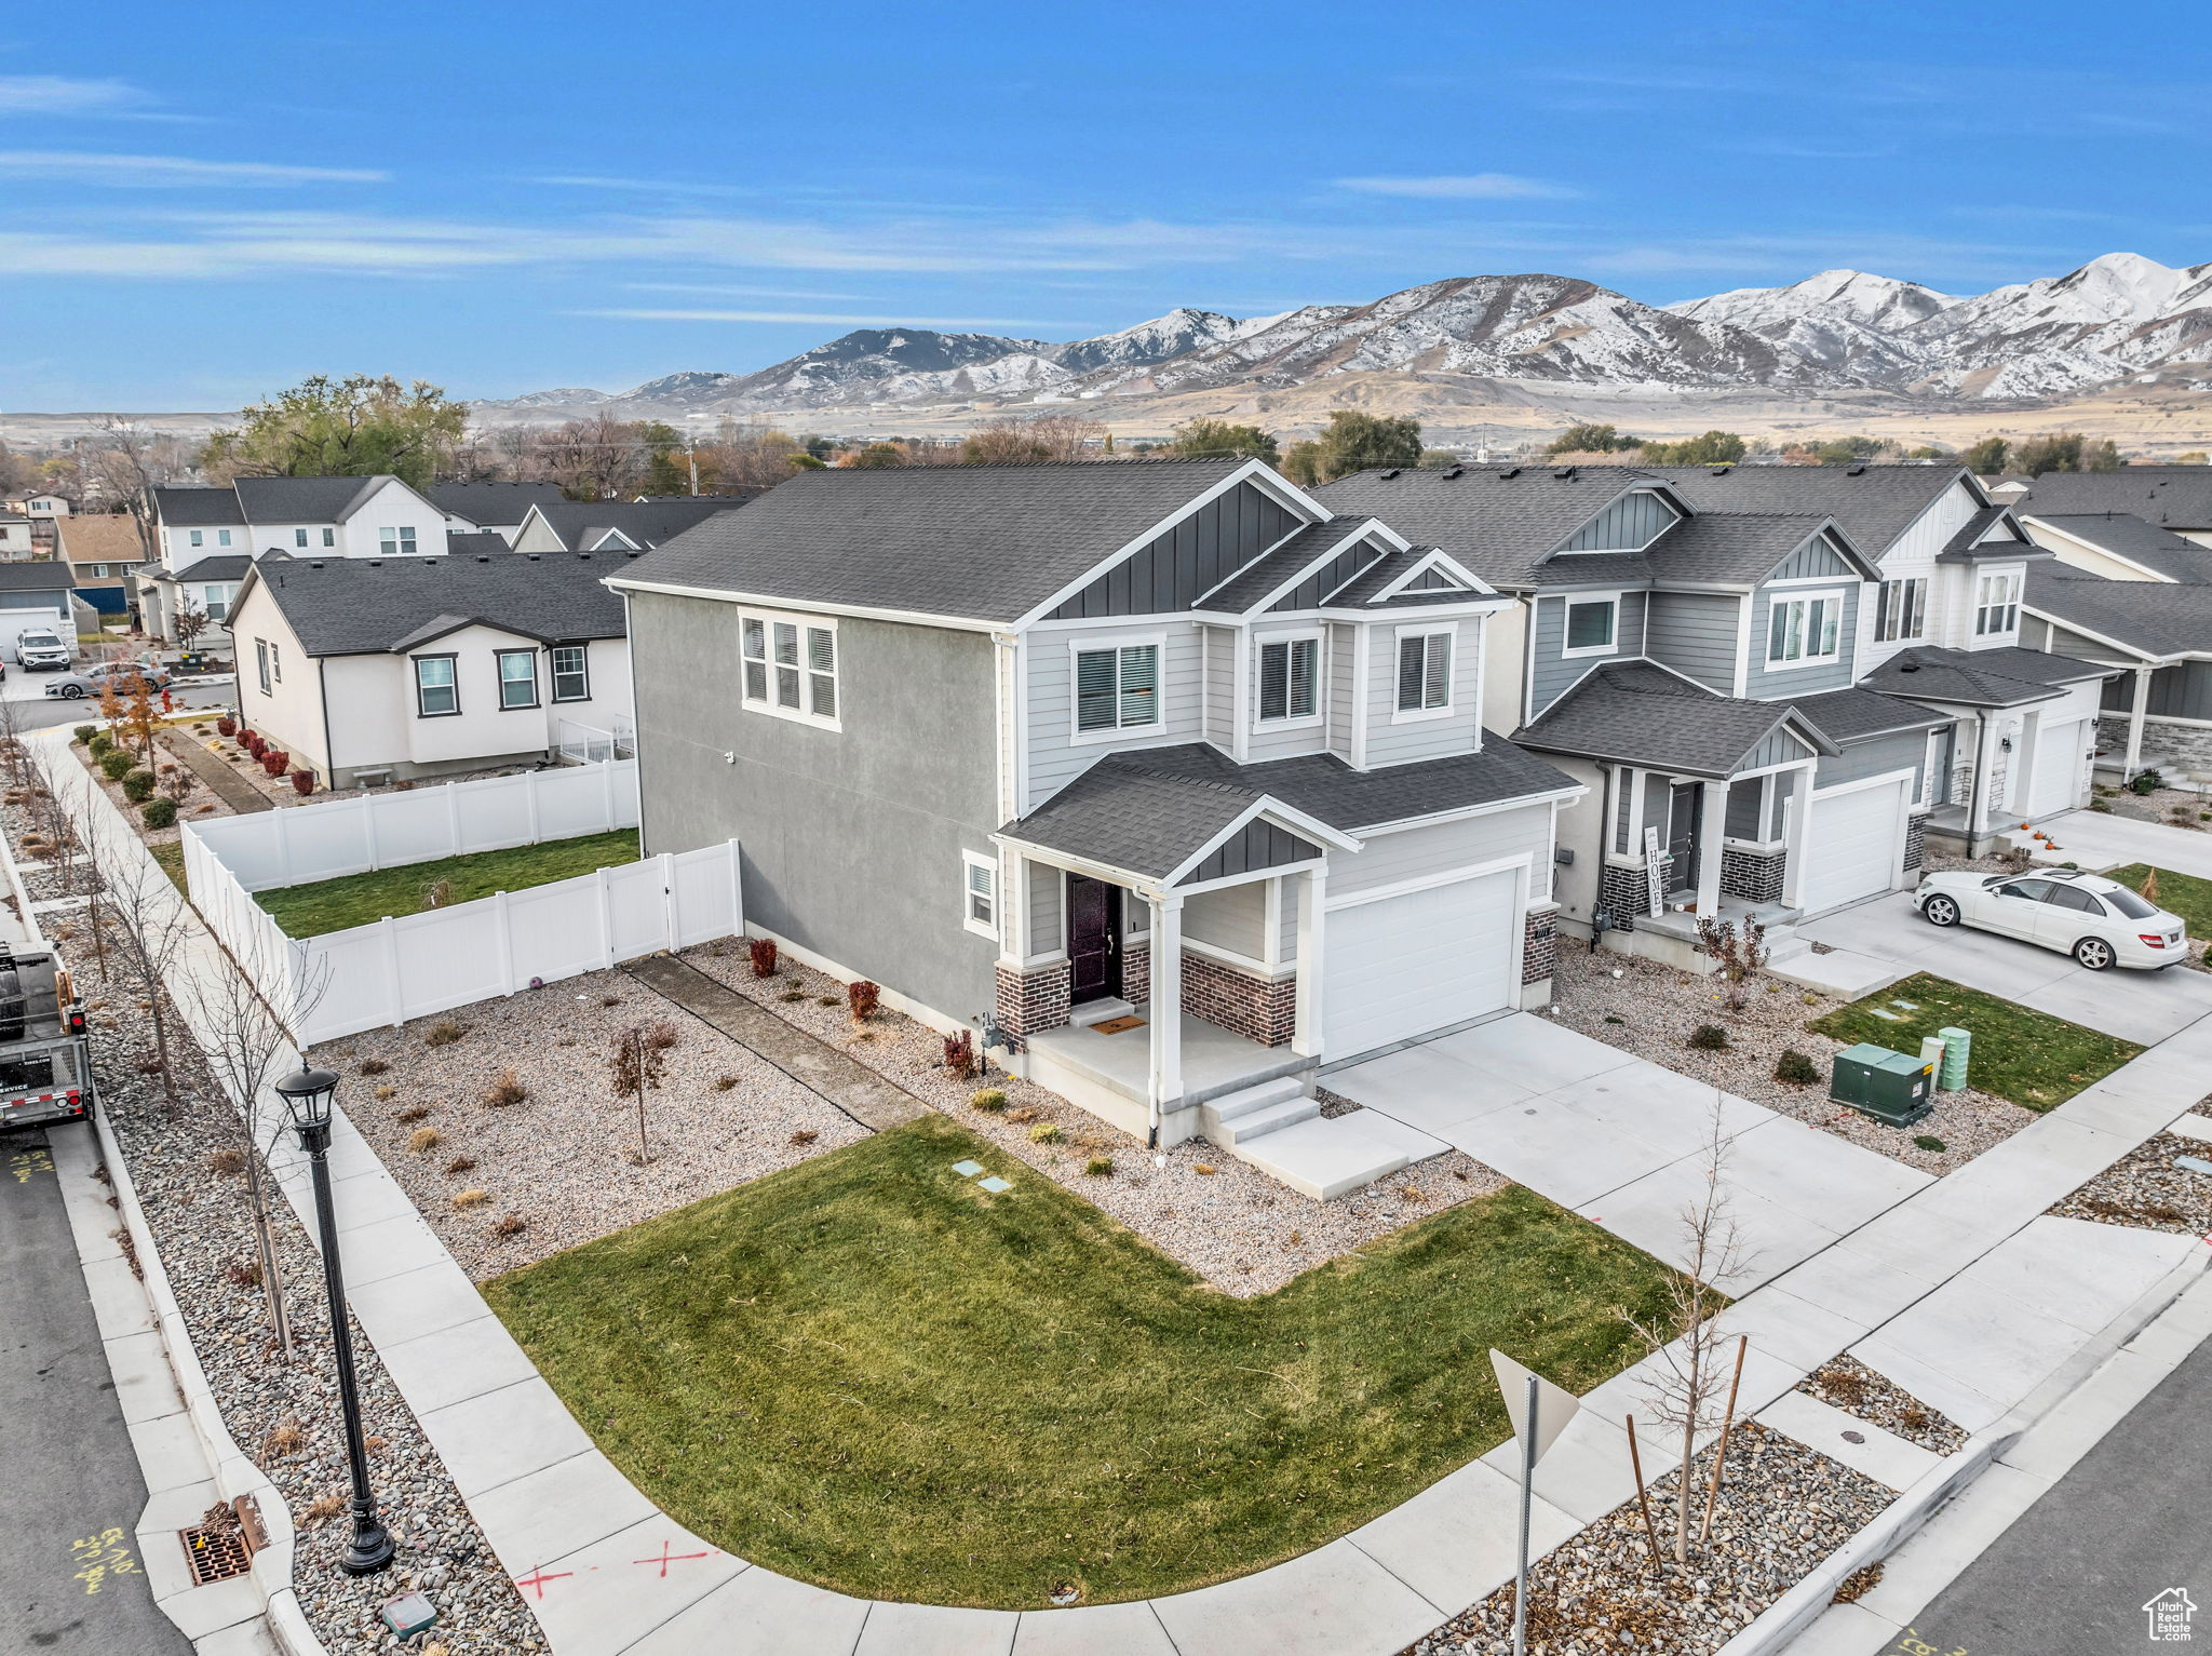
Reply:
[[1548, 999], [1584, 787], [1484, 730], [1453, 546], [1254, 460], [836, 469], [611, 586], [646, 849], [1155, 1143], [1336, 1194], [1429, 1150], [1323, 1061]]

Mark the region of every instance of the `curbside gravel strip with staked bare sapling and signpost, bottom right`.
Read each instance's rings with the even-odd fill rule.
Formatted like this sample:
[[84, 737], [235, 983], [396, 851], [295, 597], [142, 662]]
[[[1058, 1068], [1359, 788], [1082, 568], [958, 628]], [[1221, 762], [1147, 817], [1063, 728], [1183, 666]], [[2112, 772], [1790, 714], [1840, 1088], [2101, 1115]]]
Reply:
[[[1540, 1656], [1703, 1656], [1747, 1627], [1823, 1559], [1867, 1528], [1889, 1490], [1827, 1455], [1741, 1422], [1728, 1442], [1712, 1541], [1697, 1545], [1712, 1448], [1692, 1461], [1690, 1561], [1674, 1563], [1679, 1472], [1650, 1486], [1663, 1563], [1655, 1565], [1644, 1517], [1624, 1501], [1582, 1534], [1528, 1565], [1528, 1649]], [[1402, 1656], [1506, 1656], [1513, 1649], [1513, 1583], [1453, 1616]]]

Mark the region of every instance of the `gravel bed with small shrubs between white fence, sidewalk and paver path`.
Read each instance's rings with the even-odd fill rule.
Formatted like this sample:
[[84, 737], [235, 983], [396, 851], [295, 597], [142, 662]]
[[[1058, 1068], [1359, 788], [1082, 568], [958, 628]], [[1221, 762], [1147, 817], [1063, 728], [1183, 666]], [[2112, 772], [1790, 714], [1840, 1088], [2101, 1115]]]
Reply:
[[[619, 1030], [661, 1019], [677, 1044], [646, 1099], [653, 1159], [639, 1165], [637, 1105], [615, 1097], [608, 1055]], [[431, 1046], [440, 1024], [467, 1035]], [[619, 971], [325, 1041], [314, 1061], [347, 1077], [347, 1117], [478, 1282], [867, 1136]], [[507, 1070], [522, 1099], [487, 1103]], [[438, 1143], [409, 1147], [425, 1128]], [[482, 1201], [456, 1207], [467, 1192]], [[509, 1216], [524, 1229], [495, 1234]]]

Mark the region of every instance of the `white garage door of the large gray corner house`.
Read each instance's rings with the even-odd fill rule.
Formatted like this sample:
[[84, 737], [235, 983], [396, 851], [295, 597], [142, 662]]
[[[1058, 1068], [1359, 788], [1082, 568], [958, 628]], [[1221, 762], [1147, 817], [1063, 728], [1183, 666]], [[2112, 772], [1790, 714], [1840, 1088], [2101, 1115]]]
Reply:
[[1513, 1004], [1513, 871], [1329, 909], [1321, 1026], [1329, 1059]]

